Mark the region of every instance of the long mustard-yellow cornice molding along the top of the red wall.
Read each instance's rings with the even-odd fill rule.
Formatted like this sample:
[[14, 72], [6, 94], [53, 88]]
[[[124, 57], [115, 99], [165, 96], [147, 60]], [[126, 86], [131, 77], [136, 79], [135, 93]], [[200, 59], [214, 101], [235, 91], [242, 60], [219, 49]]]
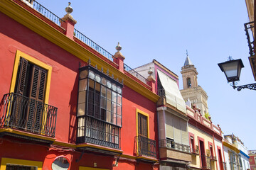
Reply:
[[75, 57], [78, 57], [80, 60], [87, 62], [87, 60], [90, 58], [93, 66], [97, 64], [97, 67], [109, 69], [110, 74], [114, 74], [115, 78], [118, 77], [120, 80], [124, 79], [124, 85], [134, 89], [134, 91], [137, 91], [139, 94], [142, 94], [142, 96], [149, 98], [151, 101], [158, 101], [159, 96], [154, 94], [149, 89], [146, 89], [145, 86], [142, 86], [142, 84], [139, 84], [139, 82], [135, 81], [126, 74], [119, 72], [117, 68], [114, 68], [111, 64], [105, 62], [100, 57], [87, 50], [85, 47], [82, 47], [82, 45], [79, 45], [77, 42], [71, 40], [63, 33], [60, 33], [59, 30], [53, 28], [41, 18], [33, 15], [33, 13], [19, 6], [14, 1], [1, 0], [0, 11], [6, 14], [6, 16], [13, 18], [18, 23], [21, 23], [23, 26], [26, 26], [26, 28], [38, 33], [38, 35], [41, 35], [43, 38], [46, 38], [55, 45], [58, 45], [67, 52], [70, 52], [70, 54], [75, 55]]

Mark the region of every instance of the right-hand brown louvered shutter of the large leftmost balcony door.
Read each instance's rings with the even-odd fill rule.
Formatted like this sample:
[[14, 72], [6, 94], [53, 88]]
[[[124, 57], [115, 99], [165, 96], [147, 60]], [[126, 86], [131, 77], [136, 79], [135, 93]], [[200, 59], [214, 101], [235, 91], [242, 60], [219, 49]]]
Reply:
[[32, 98], [33, 100], [31, 100], [29, 104], [27, 128], [37, 132], [40, 132], [41, 130], [41, 121], [44, 111], [43, 100], [46, 89], [46, 77], [46, 70], [33, 65], [29, 94], [29, 98]]

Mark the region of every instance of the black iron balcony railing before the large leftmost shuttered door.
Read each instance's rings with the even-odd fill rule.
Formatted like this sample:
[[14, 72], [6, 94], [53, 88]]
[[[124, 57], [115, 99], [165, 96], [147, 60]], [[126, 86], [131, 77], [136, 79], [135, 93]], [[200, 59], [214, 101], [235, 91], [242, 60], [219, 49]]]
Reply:
[[57, 110], [19, 94], [5, 94], [0, 103], [0, 127], [55, 137]]

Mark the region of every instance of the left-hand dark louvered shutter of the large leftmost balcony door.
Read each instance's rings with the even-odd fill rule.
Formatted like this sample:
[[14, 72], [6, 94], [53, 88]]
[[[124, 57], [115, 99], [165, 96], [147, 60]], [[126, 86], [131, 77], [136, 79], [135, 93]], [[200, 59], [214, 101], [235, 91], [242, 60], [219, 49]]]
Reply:
[[24, 93], [25, 89], [25, 84], [26, 84], [26, 74], [27, 74], [27, 69], [28, 69], [28, 60], [25, 60], [21, 58], [18, 66], [18, 73], [16, 77], [16, 93], [20, 94], [21, 96], [16, 96], [16, 102], [14, 103], [14, 108], [13, 108], [13, 113], [14, 115], [11, 116], [13, 120], [11, 122], [13, 123], [14, 126], [20, 127], [18, 125], [18, 121], [21, 120], [21, 117], [23, 117], [23, 113], [21, 113], [22, 110], [22, 96]]

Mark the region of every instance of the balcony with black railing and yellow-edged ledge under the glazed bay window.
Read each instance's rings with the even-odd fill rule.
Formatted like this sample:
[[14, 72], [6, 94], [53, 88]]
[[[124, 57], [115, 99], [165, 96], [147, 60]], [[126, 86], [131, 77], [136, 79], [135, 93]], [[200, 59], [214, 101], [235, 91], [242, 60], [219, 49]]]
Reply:
[[78, 118], [78, 148], [86, 151], [118, 155], [120, 130], [118, 126], [89, 116]]

